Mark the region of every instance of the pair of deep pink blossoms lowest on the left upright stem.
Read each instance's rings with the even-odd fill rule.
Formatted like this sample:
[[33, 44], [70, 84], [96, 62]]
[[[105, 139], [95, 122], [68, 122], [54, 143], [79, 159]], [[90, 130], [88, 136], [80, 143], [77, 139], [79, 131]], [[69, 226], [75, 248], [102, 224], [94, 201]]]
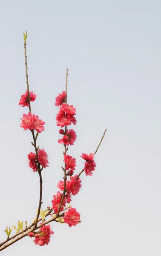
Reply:
[[[29, 159], [29, 167], [32, 168], [34, 172], [37, 172], [36, 154], [31, 152], [27, 156]], [[47, 165], [47, 163], [49, 163], [48, 155], [46, 154], [44, 149], [38, 150], [38, 161], [39, 161], [40, 165], [43, 166], [43, 168], [46, 168], [49, 166], [49, 165]]]

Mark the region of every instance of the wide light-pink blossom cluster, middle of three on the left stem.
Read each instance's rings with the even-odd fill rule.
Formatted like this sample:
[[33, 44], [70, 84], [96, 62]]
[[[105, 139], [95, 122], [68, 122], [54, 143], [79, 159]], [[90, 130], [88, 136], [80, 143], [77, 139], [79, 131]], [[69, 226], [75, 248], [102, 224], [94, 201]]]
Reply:
[[45, 122], [43, 122], [41, 119], [39, 119], [38, 116], [35, 116], [35, 114], [32, 113], [28, 113], [27, 114], [23, 114], [23, 118], [21, 118], [22, 122], [20, 124], [20, 127], [23, 128], [24, 131], [26, 131], [27, 129], [29, 130], [35, 130], [38, 133], [44, 131], [44, 124]]

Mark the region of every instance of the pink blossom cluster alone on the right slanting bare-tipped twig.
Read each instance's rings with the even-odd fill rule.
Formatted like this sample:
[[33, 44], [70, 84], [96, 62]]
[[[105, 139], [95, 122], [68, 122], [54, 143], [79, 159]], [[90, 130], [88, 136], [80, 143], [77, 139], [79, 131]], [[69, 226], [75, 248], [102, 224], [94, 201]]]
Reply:
[[92, 172], [95, 170], [96, 164], [94, 159], [94, 154], [84, 154], [82, 153], [82, 157], [84, 160], [86, 160], [86, 162], [84, 163], [84, 171], [86, 173], [86, 176], [92, 176]]

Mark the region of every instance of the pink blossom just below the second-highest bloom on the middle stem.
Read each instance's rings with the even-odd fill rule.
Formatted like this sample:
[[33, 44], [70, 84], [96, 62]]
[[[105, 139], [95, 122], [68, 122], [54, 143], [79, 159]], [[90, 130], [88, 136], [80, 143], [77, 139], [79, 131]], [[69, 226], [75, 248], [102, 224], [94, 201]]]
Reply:
[[59, 111], [56, 116], [57, 126], [64, 127], [65, 125], [68, 126], [68, 125], [71, 125], [72, 123], [74, 125], [76, 125], [76, 122], [77, 121], [76, 121], [75, 117], [73, 117], [73, 115], [69, 115], [69, 114], [63, 113], [61, 111]]

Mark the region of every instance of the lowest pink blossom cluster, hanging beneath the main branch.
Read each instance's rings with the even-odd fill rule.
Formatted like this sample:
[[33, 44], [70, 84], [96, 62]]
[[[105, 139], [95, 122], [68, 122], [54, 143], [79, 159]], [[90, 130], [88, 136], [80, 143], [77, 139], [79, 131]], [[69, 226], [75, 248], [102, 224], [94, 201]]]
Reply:
[[50, 237], [52, 234], [54, 234], [54, 232], [51, 230], [50, 225], [44, 225], [44, 226], [40, 227], [40, 233], [35, 235], [34, 243], [38, 244], [40, 246], [49, 244]]

